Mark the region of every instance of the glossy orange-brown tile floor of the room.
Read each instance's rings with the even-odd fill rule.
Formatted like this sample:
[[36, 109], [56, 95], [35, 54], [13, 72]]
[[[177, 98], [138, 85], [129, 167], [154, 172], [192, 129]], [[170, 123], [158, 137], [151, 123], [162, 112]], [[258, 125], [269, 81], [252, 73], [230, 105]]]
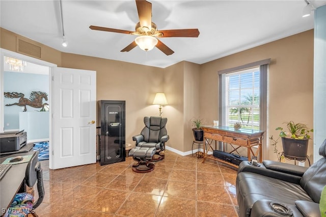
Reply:
[[[117, 164], [49, 170], [39, 216], [238, 216], [236, 170], [214, 160], [166, 151], [150, 173]], [[36, 188], [35, 188], [36, 189]], [[36, 194], [37, 195], [37, 194]], [[36, 196], [37, 197], [37, 196]]]

